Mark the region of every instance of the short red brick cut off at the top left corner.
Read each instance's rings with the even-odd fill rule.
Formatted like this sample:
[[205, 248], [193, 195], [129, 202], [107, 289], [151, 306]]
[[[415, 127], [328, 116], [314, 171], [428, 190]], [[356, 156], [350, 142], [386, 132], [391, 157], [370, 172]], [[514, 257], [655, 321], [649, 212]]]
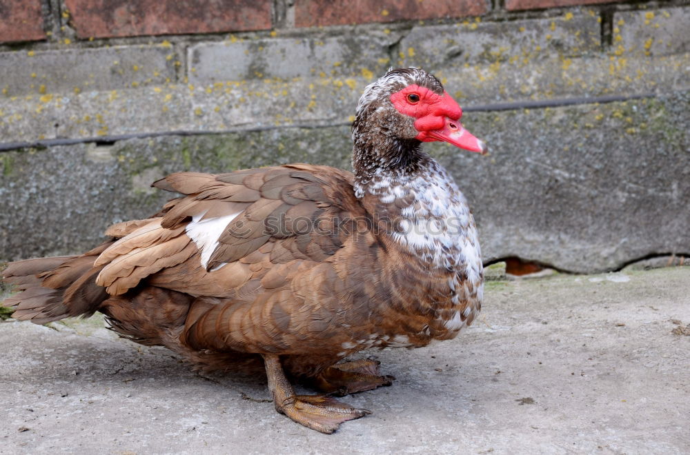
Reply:
[[0, 0], [0, 43], [45, 38], [41, 0]]

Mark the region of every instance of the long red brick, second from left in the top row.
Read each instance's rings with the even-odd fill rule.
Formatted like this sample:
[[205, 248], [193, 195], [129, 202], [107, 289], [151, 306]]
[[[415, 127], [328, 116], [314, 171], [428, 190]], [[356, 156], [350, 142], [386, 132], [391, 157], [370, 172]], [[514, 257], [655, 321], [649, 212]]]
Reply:
[[80, 38], [266, 30], [270, 1], [65, 0]]

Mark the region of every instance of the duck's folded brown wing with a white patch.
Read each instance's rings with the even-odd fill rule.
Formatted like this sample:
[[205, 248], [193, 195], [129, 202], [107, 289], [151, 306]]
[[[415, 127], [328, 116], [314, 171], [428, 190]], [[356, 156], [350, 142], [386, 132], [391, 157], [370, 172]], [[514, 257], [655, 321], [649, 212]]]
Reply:
[[363, 214], [352, 174], [313, 165], [181, 172], [154, 186], [186, 196], [160, 217], [123, 223], [124, 234], [97, 259], [97, 284], [123, 294], [142, 280], [196, 296], [250, 301], [263, 285], [285, 277], [268, 272], [291, 261], [324, 261], [342, 246], [338, 229]]

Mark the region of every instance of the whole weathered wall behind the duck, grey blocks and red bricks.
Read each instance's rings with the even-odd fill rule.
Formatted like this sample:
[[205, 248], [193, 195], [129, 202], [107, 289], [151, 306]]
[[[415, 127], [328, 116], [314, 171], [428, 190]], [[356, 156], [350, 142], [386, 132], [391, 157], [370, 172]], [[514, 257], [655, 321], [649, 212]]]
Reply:
[[90, 247], [155, 212], [169, 172], [346, 168], [364, 85], [408, 65], [491, 146], [429, 148], [487, 262], [690, 254], [688, 1], [1, 0], [0, 17], [0, 261]]

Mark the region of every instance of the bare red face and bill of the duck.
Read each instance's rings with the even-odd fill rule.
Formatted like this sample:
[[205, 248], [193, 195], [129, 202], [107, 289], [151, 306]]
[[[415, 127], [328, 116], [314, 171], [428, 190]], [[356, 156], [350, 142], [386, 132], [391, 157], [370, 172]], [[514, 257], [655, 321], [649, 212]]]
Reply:
[[462, 109], [448, 92], [442, 95], [412, 84], [391, 95], [391, 103], [401, 114], [415, 118], [420, 141], [444, 141], [459, 148], [486, 154], [486, 144], [460, 123]]

